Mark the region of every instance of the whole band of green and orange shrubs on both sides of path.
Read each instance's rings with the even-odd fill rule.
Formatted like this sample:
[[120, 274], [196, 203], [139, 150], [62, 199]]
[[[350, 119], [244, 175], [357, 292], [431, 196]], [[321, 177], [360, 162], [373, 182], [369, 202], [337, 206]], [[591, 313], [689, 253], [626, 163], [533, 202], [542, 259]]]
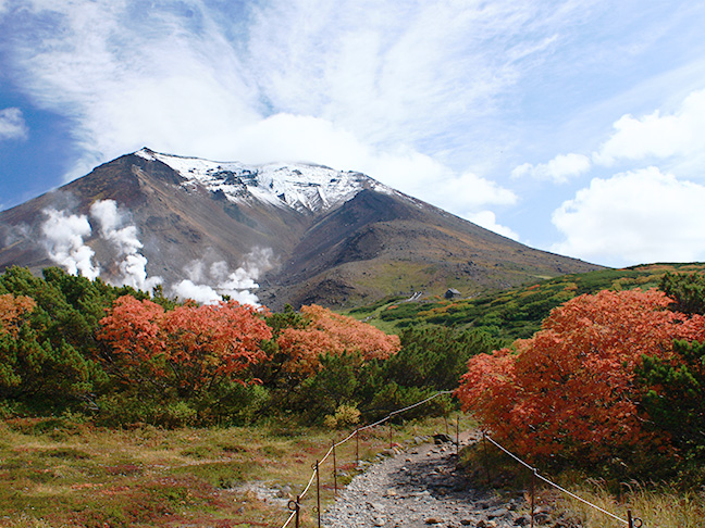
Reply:
[[[177, 427], [287, 416], [349, 427], [456, 390], [465, 411], [534, 463], [621, 478], [702, 466], [704, 386], [700, 274], [573, 297], [509, 347], [481, 329], [425, 324], [385, 335], [317, 305], [182, 303], [55, 267], [0, 276], [2, 417]], [[417, 412], [453, 405], [436, 399]]]

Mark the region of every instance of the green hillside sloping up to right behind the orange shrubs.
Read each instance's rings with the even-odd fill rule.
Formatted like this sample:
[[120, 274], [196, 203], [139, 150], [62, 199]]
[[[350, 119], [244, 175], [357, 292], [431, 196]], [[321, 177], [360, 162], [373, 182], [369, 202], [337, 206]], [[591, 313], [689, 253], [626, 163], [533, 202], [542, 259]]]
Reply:
[[564, 275], [532, 286], [503, 290], [473, 299], [409, 301], [386, 299], [347, 312], [385, 331], [400, 332], [411, 326], [449, 326], [483, 329], [506, 339], [529, 338], [551, 310], [583, 293], [658, 287], [666, 273], [705, 272], [705, 263], [647, 264], [622, 269], [601, 269]]

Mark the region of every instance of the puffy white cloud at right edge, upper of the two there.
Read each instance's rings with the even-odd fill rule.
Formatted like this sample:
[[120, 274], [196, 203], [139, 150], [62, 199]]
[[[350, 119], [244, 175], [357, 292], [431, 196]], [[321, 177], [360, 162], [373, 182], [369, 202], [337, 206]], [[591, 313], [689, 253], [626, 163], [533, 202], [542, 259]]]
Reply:
[[[688, 96], [673, 113], [659, 110], [636, 118], [623, 115], [615, 133], [593, 155], [596, 163], [611, 165], [622, 160], [697, 156], [705, 152], [705, 90]], [[702, 169], [702, 165], [701, 165]]]

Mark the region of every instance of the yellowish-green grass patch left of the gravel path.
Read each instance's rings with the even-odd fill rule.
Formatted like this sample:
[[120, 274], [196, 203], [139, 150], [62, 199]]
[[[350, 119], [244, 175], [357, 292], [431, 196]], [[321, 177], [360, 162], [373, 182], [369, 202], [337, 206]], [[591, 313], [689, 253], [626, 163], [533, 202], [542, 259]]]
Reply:
[[[287, 500], [344, 436], [284, 420], [177, 430], [47, 422], [0, 423], [2, 527], [281, 526]], [[442, 418], [410, 422], [394, 426], [394, 441], [442, 429]], [[361, 433], [360, 458], [372, 458], [388, 442], [386, 425]], [[338, 485], [355, 474], [355, 441], [336, 450]], [[334, 499], [332, 457], [320, 477], [327, 504]], [[312, 489], [304, 500], [302, 526], [313, 526], [314, 505]]]

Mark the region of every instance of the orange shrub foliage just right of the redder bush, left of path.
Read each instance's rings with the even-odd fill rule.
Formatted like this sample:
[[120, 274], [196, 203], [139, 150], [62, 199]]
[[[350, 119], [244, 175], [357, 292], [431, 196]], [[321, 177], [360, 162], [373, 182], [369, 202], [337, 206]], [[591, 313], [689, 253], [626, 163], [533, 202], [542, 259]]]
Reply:
[[398, 336], [387, 336], [371, 325], [339, 315], [317, 304], [302, 306], [306, 328], [286, 328], [277, 339], [289, 372], [313, 374], [325, 353], [358, 352], [363, 360], [387, 359], [400, 349]]

